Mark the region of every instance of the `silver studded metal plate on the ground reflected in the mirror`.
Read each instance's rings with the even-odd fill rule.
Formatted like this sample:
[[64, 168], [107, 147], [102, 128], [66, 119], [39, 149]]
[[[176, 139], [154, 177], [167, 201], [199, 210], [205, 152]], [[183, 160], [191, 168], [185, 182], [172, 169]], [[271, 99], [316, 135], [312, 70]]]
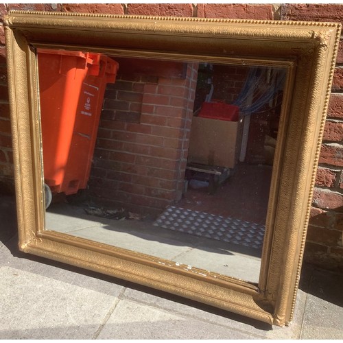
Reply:
[[265, 230], [261, 224], [175, 206], [168, 206], [154, 226], [257, 249], [262, 248]]

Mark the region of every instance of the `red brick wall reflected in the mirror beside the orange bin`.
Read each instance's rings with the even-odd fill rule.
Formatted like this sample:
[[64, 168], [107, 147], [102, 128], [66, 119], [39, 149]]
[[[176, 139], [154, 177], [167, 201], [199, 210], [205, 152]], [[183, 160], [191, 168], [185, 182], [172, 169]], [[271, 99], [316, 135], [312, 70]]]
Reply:
[[158, 77], [157, 64], [149, 75], [123, 67], [108, 85], [90, 180], [103, 203], [156, 211], [182, 195], [198, 66]]

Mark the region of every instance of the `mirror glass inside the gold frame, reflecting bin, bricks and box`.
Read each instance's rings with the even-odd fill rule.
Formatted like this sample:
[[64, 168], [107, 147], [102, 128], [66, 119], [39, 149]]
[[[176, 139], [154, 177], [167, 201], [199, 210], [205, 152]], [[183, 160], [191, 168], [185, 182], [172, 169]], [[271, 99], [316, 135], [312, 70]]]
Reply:
[[257, 283], [285, 69], [37, 55], [45, 229]]

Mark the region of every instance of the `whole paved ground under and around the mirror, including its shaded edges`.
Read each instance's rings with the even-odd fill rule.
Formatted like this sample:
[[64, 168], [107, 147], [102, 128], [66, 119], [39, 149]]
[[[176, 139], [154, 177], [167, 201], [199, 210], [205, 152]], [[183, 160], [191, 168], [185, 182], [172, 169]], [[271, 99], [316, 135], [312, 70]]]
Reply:
[[15, 205], [0, 202], [1, 339], [342, 339], [343, 275], [305, 265], [294, 321], [227, 311], [19, 252]]

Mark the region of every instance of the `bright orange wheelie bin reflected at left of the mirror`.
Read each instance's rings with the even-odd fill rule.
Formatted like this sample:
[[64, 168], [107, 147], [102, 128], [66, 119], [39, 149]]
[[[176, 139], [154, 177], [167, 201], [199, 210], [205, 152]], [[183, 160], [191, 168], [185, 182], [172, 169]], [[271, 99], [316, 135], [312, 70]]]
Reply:
[[45, 188], [86, 189], [107, 83], [119, 64], [103, 54], [38, 49]]

